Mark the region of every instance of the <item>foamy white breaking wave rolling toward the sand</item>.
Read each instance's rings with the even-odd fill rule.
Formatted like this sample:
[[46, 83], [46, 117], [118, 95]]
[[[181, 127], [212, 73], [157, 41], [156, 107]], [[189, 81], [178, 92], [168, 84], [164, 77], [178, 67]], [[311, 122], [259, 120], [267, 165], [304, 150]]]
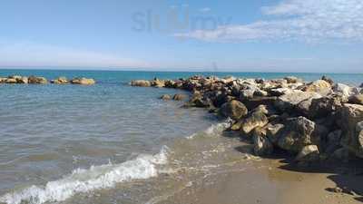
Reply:
[[95, 189], [113, 188], [116, 183], [130, 180], [144, 180], [158, 175], [158, 165], [167, 163], [167, 147], [156, 155], [140, 155], [134, 160], [121, 164], [93, 166], [89, 170], [74, 170], [62, 180], [48, 182], [44, 187], [32, 186], [27, 189], [7, 193], [0, 202], [7, 204], [42, 204], [63, 201], [76, 193]]

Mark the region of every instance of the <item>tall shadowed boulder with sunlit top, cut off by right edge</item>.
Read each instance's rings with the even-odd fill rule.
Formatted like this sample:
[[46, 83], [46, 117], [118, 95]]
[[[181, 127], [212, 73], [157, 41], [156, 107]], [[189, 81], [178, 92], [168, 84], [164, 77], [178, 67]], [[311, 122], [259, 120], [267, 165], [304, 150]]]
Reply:
[[363, 158], [363, 105], [346, 103], [340, 109], [341, 144]]

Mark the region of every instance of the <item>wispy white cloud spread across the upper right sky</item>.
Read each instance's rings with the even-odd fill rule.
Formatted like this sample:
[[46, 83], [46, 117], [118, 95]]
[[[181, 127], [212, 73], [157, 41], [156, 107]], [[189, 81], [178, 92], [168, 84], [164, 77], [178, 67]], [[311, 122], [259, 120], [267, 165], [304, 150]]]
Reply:
[[278, 5], [262, 7], [261, 11], [270, 19], [175, 36], [211, 42], [363, 41], [362, 0], [285, 0]]

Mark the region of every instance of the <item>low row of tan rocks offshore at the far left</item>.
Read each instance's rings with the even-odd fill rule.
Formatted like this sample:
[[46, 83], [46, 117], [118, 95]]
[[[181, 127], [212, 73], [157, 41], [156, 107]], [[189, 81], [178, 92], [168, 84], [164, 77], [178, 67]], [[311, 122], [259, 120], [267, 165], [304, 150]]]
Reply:
[[[8, 77], [0, 77], [0, 83], [30, 83], [30, 84], [46, 84], [48, 80], [41, 76], [20, 76], [11, 75]], [[80, 85], [93, 85], [96, 83], [93, 79], [79, 78], [76, 77], [72, 80], [68, 80], [65, 77], [58, 77], [57, 79], [51, 80], [50, 83], [54, 84], [80, 84]]]

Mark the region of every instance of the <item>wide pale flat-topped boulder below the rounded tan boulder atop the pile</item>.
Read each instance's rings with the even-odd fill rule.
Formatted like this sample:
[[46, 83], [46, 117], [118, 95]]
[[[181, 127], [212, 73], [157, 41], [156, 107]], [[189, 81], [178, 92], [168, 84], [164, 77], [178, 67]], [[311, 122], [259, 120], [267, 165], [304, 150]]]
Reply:
[[275, 106], [281, 111], [288, 111], [296, 108], [300, 102], [305, 101], [308, 103], [306, 106], [309, 106], [310, 100], [322, 97], [317, 92], [295, 91], [281, 95], [275, 102]]

